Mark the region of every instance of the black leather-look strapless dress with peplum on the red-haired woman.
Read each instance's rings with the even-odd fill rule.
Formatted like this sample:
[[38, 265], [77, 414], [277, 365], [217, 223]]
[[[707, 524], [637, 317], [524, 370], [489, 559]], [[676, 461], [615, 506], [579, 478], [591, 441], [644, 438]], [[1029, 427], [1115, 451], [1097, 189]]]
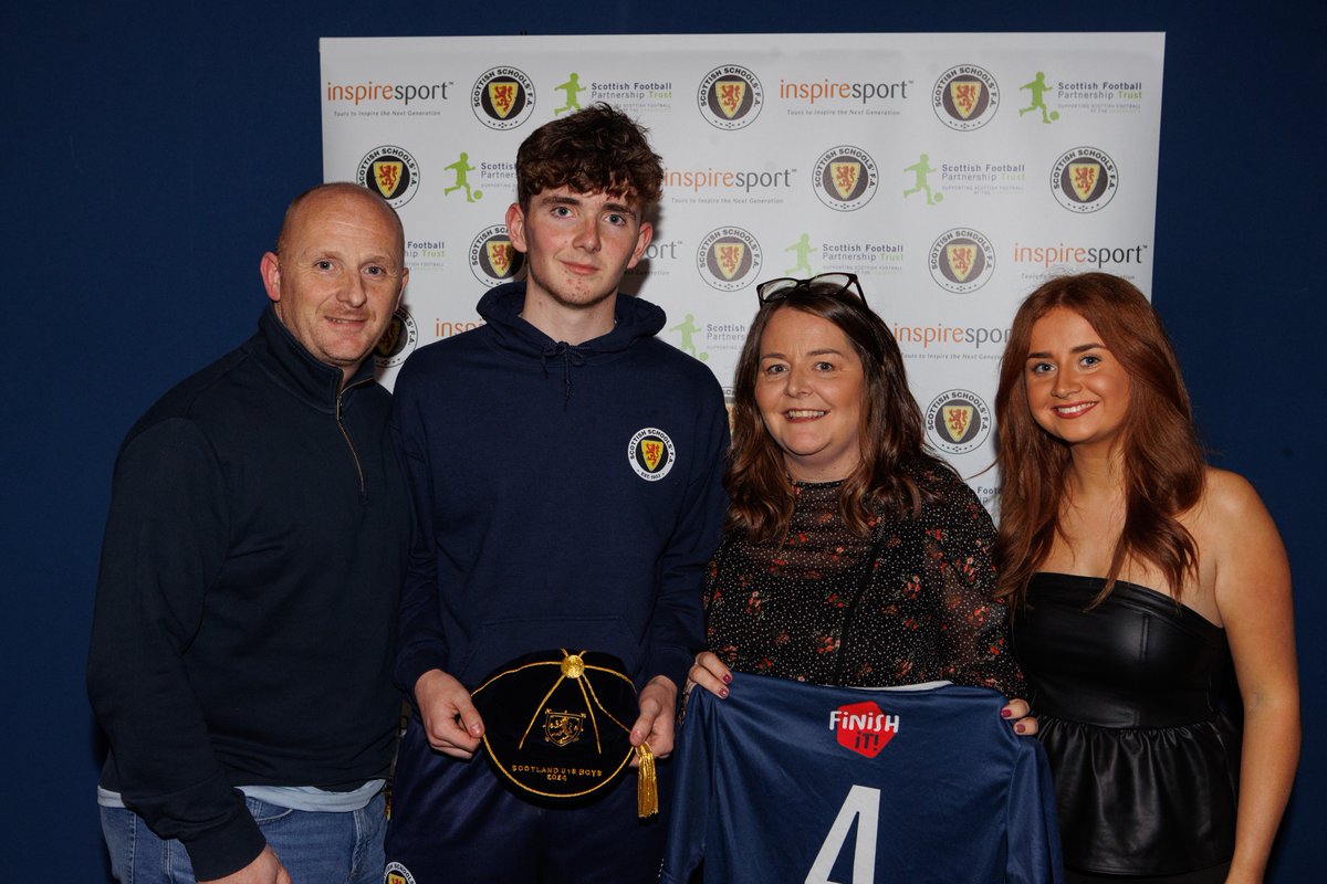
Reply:
[[1035, 574], [1014, 616], [1067, 868], [1177, 875], [1234, 852], [1239, 733], [1225, 630], [1162, 592]]

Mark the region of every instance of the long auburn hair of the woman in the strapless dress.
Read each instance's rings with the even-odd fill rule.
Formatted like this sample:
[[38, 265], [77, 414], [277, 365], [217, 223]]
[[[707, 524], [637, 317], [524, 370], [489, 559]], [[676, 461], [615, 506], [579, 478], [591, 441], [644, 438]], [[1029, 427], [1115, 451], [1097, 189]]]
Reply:
[[1178, 602], [1185, 575], [1197, 571], [1198, 549], [1177, 516], [1202, 494], [1202, 447], [1161, 319], [1141, 292], [1109, 273], [1052, 278], [1027, 296], [1014, 315], [995, 394], [995, 463], [1002, 481], [995, 543], [999, 595], [1015, 602], [1026, 598], [1027, 582], [1059, 531], [1070, 448], [1032, 420], [1024, 382], [1032, 325], [1056, 307], [1087, 319], [1129, 378], [1129, 407], [1119, 443], [1124, 527], [1105, 586], [1089, 607], [1111, 594], [1129, 557], [1160, 569]]

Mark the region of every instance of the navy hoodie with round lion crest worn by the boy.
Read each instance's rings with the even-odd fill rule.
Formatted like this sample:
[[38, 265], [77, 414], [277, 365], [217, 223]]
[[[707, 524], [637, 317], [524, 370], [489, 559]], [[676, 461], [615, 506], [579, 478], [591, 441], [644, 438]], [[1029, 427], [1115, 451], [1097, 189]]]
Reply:
[[579, 346], [520, 318], [524, 284], [488, 292], [486, 325], [415, 353], [391, 425], [417, 516], [397, 679], [474, 689], [543, 648], [613, 653], [637, 687], [682, 684], [726, 508], [723, 395], [654, 338], [664, 311], [618, 296]]

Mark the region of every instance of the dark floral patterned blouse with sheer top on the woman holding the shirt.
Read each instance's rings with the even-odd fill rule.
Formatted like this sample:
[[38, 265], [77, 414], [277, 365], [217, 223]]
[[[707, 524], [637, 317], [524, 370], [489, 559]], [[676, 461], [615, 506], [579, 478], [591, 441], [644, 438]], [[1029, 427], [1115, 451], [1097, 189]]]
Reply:
[[841, 482], [796, 482], [782, 542], [726, 535], [706, 591], [710, 649], [736, 672], [815, 684], [947, 680], [1026, 696], [991, 599], [990, 516], [950, 470], [913, 474], [938, 500], [916, 520], [877, 517], [871, 537], [839, 514]]

